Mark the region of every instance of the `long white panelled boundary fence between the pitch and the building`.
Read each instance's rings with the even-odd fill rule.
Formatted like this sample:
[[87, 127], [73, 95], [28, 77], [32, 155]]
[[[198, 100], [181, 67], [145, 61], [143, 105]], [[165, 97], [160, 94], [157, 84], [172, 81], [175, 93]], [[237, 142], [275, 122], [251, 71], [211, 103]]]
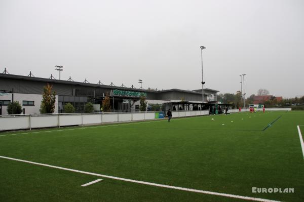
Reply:
[[[82, 126], [105, 123], [133, 122], [140, 120], [161, 119], [157, 113], [151, 112], [118, 112], [118, 113], [60, 113], [60, 114], [18, 114], [1, 115], [0, 131], [37, 129], [61, 126]], [[208, 115], [208, 110], [172, 111], [173, 117]]]

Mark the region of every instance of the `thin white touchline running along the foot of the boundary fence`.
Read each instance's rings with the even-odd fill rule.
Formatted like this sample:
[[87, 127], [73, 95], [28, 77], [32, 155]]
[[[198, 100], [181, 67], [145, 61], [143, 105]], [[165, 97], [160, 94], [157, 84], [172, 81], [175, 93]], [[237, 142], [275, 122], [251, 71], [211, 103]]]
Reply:
[[[195, 116], [195, 117], [185, 117], [185, 118], [177, 118], [176, 120], [181, 119], [188, 119], [188, 118], [198, 118], [202, 116]], [[36, 131], [36, 132], [28, 132], [28, 133], [16, 133], [16, 134], [7, 134], [7, 135], [0, 135], [1, 136], [11, 136], [11, 135], [25, 135], [25, 134], [33, 134], [33, 133], [50, 133], [50, 132], [59, 132], [59, 131], [70, 131], [70, 130], [81, 130], [81, 129], [93, 129], [93, 128], [103, 128], [103, 127], [113, 127], [113, 126], [125, 126], [125, 125], [133, 125], [133, 124], [145, 124], [145, 123], [154, 123], [154, 122], [164, 122], [165, 120], [153, 120], [151, 122], [136, 122], [136, 123], [129, 123], [129, 124], [115, 124], [115, 125], [108, 125], [108, 126], [93, 126], [93, 127], [81, 127], [81, 128], [73, 128], [73, 129], [61, 129], [61, 130], [52, 130], [52, 131]]]

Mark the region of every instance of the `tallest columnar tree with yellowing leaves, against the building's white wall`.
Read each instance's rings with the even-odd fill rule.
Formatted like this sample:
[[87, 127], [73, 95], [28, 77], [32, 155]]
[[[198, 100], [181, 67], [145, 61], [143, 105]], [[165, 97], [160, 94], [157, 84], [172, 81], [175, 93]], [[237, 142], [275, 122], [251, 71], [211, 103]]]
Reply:
[[43, 99], [41, 101], [40, 113], [54, 113], [55, 110], [55, 101], [56, 101], [56, 92], [52, 93], [52, 85], [47, 84], [43, 88]]

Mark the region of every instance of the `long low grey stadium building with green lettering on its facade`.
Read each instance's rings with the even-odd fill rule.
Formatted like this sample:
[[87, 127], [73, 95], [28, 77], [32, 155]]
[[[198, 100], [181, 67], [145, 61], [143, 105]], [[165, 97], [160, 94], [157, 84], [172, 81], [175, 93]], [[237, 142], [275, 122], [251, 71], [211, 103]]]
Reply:
[[147, 110], [151, 106], [162, 105], [163, 110], [194, 110], [215, 108], [217, 102], [216, 94], [219, 91], [204, 89], [204, 100], [202, 103], [202, 90], [144, 90], [133, 86], [127, 88], [111, 85], [90, 84], [87, 79], [84, 83], [69, 80], [57, 80], [50, 78], [13, 75], [0, 73], [0, 114], [7, 114], [7, 105], [12, 101], [19, 101], [23, 113], [40, 113], [43, 88], [46, 84], [53, 86], [56, 92], [55, 113], [64, 113], [64, 104], [71, 103], [75, 112], [84, 112], [87, 102], [94, 104], [94, 109], [100, 111], [104, 96], [109, 95], [112, 111], [138, 111], [139, 99], [146, 97]]

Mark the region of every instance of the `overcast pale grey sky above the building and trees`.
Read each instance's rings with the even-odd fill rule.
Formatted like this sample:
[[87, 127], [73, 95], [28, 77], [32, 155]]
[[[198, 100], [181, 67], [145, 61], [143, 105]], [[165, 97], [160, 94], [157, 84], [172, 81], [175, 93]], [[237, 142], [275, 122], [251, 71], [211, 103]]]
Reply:
[[144, 88], [304, 95], [304, 1], [0, 0], [0, 71]]

